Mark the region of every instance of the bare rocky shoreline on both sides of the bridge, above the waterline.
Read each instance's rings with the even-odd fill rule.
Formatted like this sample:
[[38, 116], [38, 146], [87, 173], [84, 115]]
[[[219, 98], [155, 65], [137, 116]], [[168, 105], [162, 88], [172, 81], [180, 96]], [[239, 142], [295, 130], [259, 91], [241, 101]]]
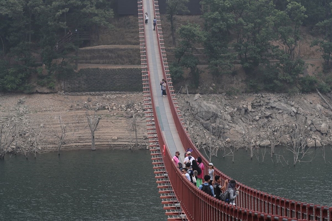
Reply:
[[[330, 100], [331, 95], [324, 96]], [[295, 140], [310, 147], [332, 144], [332, 111], [318, 94], [179, 94], [177, 98], [193, 142], [211, 152], [225, 147], [292, 146]], [[58, 150], [60, 116], [67, 125], [62, 150], [89, 148], [86, 116], [92, 115], [102, 117], [96, 130], [97, 148], [145, 149], [148, 145], [142, 93], [3, 94], [0, 122], [5, 125], [9, 118], [18, 130], [17, 142], [5, 151], [28, 155]]]

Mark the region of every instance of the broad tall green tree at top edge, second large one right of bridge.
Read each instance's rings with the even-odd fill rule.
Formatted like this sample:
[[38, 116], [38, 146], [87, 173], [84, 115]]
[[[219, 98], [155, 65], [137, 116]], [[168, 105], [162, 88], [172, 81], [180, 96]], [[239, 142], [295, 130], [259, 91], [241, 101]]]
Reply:
[[243, 68], [249, 73], [271, 58], [275, 9], [272, 0], [233, 0], [232, 4], [237, 35], [233, 46]]

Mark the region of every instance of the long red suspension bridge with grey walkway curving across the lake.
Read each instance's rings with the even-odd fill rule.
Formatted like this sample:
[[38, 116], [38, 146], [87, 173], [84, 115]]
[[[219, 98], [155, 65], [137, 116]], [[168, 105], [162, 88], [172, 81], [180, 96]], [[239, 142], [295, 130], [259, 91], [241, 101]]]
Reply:
[[[145, 13], [148, 24], [145, 24]], [[157, 19], [156, 30], [152, 20]], [[219, 201], [184, 178], [171, 161], [176, 151], [184, 156], [191, 148], [194, 158], [208, 161], [195, 148], [187, 134], [175, 97], [166, 58], [158, 0], [138, 0], [140, 52], [147, 134], [154, 174], [168, 221], [332, 221], [332, 207], [294, 201], [258, 191], [237, 182], [240, 187], [236, 206]], [[160, 81], [167, 82], [167, 97]], [[184, 159], [182, 159], [183, 161]], [[204, 174], [207, 174], [207, 166]], [[218, 169], [222, 184], [229, 179]]]

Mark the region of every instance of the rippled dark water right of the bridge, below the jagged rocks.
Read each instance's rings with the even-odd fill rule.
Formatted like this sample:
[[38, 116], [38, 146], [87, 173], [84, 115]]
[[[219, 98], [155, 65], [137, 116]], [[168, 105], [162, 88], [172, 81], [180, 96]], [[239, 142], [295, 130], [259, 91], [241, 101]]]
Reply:
[[[317, 149], [314, 158], [309, 163], [292, 165], [292, 153], [286, 147], [277, 147], [277, 155], [282, 155], [285, 161], [273, 161], [267, 153], [264, 162], [259, 163], [254, 156], [250, 160], [249, 153], [238, 150], [232, 157], [212, 158], [213, 164], [222, 172], [255, 189], [284, 197], [291, 200], [332, 206], [332, 150], [325, 148], [325, 159], [322, 149]], [[259, 153], [262, 161], [262, 153]], [[289, 165], [286, 164], [289, 162]]]

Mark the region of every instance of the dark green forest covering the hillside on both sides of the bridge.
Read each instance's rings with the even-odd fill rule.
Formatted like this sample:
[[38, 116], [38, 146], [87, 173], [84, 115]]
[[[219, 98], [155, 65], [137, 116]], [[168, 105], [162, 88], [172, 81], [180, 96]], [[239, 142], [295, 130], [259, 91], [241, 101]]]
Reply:
[[[84, 46], [77, 32], [97, 39], [107, 33], [101, 30], [112, 27], [115, 2], [1, 1], [0, 91], [29, 93], [34, 83], [54, 88], [74, 71], [75, 50]], [[235, 65], [241, 65], [252, 92], [331, 90], [332, 0], [202, 0], [200, 20], [180, 25], [179, 14], [188, 13], [188, 2], [167, 0], [167, 15], [162, 16], [173, 44], [166, 46], [175, 47], [170, 66], [175, 83], [188, 73], [190, 86], [200, 86], [203, 70], [197, 54], [203, 51], [208, 75], [234, 76]], [[304, 28], [322, 55], [322, 68], [313, 75], [306, 74], [308, 64], [300, 53]], [[63, 36], [70, 41], [60, 44]], [[34, 83], [32, 76], [37, 76]]]

